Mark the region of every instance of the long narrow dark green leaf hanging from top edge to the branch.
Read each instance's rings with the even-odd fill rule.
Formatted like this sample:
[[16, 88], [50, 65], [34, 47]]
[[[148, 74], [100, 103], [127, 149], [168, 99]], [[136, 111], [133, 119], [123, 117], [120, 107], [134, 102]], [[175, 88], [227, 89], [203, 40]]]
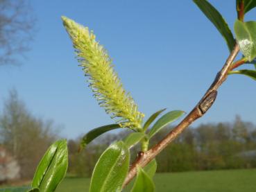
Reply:
[[212, 21], [212, 24], [214, 24], [219, 30], [219, 33], [224, 37], [225, 42], [228, 44], [228, 49], [232, 51], [235, 40], [228, 24], [225, 22], [219, 11], [206, 0], [194, 0], [194, 3], [196, 3], [205, 16]]

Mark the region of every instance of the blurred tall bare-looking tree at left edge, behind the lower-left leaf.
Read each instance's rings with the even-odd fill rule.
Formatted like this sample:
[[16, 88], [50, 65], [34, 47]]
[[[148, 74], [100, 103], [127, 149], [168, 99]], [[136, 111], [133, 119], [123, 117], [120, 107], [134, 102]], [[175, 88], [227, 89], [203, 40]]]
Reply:
[[23, 178], [33, 176], [46, 148], [56, 139], [53, 123], [35, 118], [10, 91], [0, 116], [0, 143], [17, 159]]

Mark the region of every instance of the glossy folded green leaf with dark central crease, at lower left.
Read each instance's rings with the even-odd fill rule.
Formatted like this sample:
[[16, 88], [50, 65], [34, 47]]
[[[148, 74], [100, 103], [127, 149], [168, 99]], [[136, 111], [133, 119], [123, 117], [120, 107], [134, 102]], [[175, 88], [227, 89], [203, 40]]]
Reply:
[[67, 141], [61, 139], [53, 143], [42, 157], [35, 171], [32, 186], [44, 192], [55, 191], [65, 177], [67, 164]]

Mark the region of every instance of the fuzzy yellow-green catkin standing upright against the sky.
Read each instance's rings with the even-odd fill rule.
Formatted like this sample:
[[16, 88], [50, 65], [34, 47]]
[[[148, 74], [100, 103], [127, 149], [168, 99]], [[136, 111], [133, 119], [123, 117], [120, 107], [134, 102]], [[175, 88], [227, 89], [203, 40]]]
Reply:
[[133, 98], [123, 89], [112, 60], [103, 46], [96, 42], [94, 33], [67, 17], [62, 17], [62, 21], [99, 105], [111, 118], [117, 117], [117, 123], [122, 127], [141, 128], [144, 114], [138, 111]]

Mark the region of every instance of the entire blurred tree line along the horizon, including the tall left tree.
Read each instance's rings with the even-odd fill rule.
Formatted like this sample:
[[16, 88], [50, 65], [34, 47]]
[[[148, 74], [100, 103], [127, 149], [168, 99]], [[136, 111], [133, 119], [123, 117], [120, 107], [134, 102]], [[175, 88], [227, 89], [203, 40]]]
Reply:
[[[171, 129], [168, 127], [156, 134], [151, 145]], [[6, 149], [17, 160], [20, 178], [33, 177], [46, 148], [60, 138], [57, 132], [53, 121], [33, 116], [18, 98], [17, 91], [10, 91], [0, 113], [0, 149]], [[127, 131], [103, 134], [79, 153], [80, 138], [70, 139], [69, 174], [89, 177], [103, 150], [127, 134]], [[135, 146], [134, 151], [138, 150], [139, 146]], [[135, 159], [135, 152], [131, 156]], [[158, 172], [256, 168], [256, 126], [237, 116], [232, 123], [207, 123], [188, 128], [157, 156], [157, 162]], [[6, 165], [0, 161], [0, 166]]]

